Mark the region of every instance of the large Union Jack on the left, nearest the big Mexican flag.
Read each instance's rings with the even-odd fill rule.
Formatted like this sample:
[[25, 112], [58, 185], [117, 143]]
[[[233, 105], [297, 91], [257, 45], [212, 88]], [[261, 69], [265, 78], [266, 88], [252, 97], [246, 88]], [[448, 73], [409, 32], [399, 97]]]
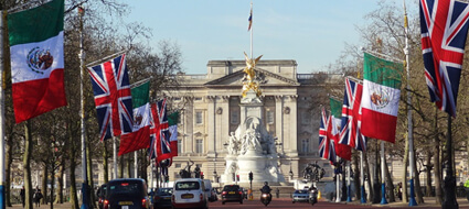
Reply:
[[88, 67], [92, 78], [99, 140], [132, 132], [134, 112], [126, 55]]

